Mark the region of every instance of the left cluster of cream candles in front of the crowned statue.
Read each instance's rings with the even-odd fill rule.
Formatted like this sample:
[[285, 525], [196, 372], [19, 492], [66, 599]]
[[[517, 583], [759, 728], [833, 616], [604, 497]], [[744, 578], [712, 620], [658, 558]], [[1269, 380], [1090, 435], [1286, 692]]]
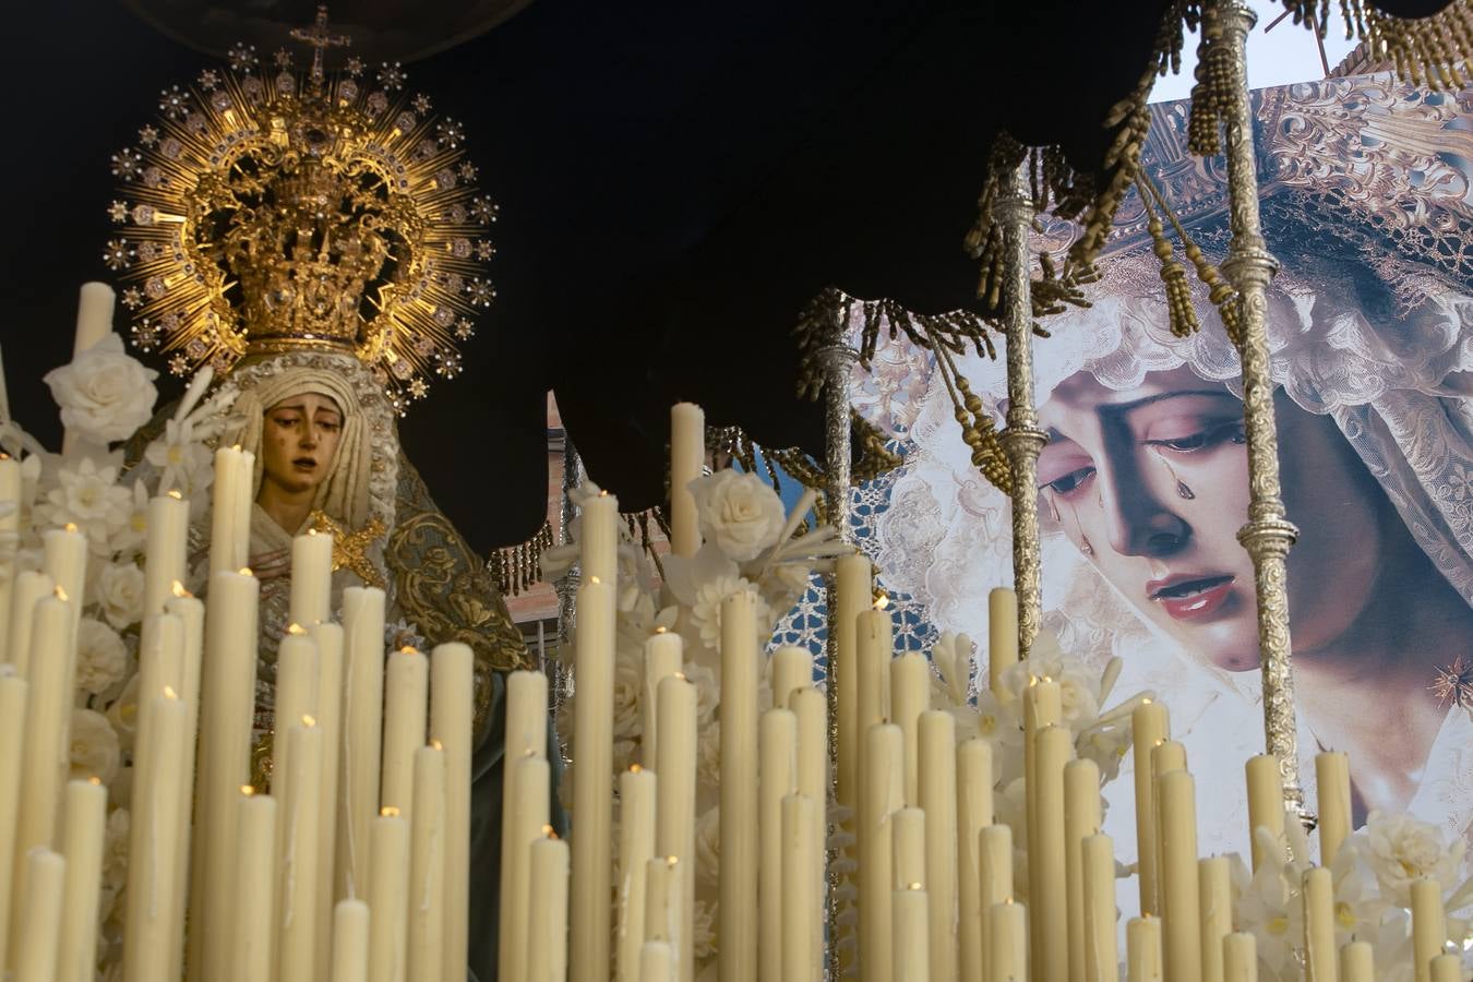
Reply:
[[[348, 587], [333, 623], [331, 537], [296, 537], [271, 794], [253, 788], [252, 468], [217, 452], [208, 602], [181, 586], [189, 502], [149, 505], [124, 978], [460, 982], [471, 651], [386, 658], [384, 593]], [[0, 502], [18, 498], [18, 465], [0, 459]], [[0, 514], [13, 530], [16, 512]], [[72, 527], [41, 539], [43, 568], [6, 577], [0, 598], [0, 967], [91, 982], [108, 789], [66, 780], [88, 549]]]

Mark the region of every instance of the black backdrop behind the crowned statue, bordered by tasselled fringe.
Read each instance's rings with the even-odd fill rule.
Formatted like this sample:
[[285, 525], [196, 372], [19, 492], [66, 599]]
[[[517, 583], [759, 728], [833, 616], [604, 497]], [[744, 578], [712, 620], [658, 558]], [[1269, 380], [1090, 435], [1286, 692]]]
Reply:
[[[465, 122], [501, 203], [498, 306], [464, 377], [402, 423], [409, 458], [485, 554], [542, 523], [548, 389], [591, 477], [629, 509], [663, 493], [676, 399], [820, 453], [819, 406], [792, 395], [804, 302], [834, 284], [922, 312], [975, 306], [960, 243], [994, 134], [1062, 141], [1096, 169], [1100, 121], [1146, 68], [1164, 6], [535, 0], [407, 65], [411, 91]], [[249, 9], [312, 18], [311, 3]], [[69, 358], [78, 286], [109, 278], [109, 156], [162, 88], [217, 59], [110, 0], [7, 19], [0, 346], [13, 411], [56, 446], [41, 374]]]

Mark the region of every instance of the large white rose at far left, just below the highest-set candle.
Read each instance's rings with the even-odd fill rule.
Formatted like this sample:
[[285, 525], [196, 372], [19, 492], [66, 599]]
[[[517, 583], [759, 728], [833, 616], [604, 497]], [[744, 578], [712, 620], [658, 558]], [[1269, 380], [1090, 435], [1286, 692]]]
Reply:
[[99, 443], [125, 440], [153, 415], [159, 372], [122, 350], [122, 339], [108, 334], [69, 365], [46, 374], [62, 424]]

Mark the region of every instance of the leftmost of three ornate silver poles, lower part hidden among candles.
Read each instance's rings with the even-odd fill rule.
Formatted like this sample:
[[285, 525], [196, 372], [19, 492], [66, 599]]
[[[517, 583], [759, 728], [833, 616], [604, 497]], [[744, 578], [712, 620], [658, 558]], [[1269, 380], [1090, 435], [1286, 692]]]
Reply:
[[[825, 508], [828, 511], [829, 524], [838, 530], [840, 537], [844, 542], [853, 542], [854, 533], [848, 526], [848, 483], [850, 483], [850, 425], [848, 425], [848, 399], [850, 399], [850, 374], [854, 370], [854, 362], [859, 361], [859, 352], [844, 343], [844, 328], [847, 324], [840, 322], [840, 314], [835, 312], [835, 319], [832, 324], [834, 334], [828, 343], [818, 350], [819, 361], [823, 364], [823, 471], [828, 478], [828, 487], [823, 489]], [[841, 964], [841, 948], [840, 948], [840, 923], [838, 923], [838, 908], [840, 908], [840, 855], [838, 841], [841, 829], [835, 822], [834, 805], [838, 802], [838, 680], [834, 677], [834, 665], [838, 661], [838, 642], [835, 623], [835, 612], [838, 611], [838, 592], [837, 580], [834, 574], [825, 577], [825, 592], [828, 595], [826, 610], [828, 610], [828, 670], [826, 670], [826, 695], [828, 695], [828, 752], [829, 752], [829, 823], [828, 823], [828, 876], [826, 876], [826, 935], [828, 947], [825, 950], [825, 973], [829, 982], [838, 982], [843, 972]]]

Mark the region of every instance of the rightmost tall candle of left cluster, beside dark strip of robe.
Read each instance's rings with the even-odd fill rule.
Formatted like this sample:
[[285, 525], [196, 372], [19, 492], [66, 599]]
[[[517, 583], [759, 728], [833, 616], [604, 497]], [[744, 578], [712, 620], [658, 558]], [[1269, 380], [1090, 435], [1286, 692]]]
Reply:
[[445, 897], [440, 907], [445, 911], [445, 982], [460, 982], [470, 953], [474, 698], [476, 655], [470, 645], [437, 645], [430, 654], [430, 739], [445, 751]]

